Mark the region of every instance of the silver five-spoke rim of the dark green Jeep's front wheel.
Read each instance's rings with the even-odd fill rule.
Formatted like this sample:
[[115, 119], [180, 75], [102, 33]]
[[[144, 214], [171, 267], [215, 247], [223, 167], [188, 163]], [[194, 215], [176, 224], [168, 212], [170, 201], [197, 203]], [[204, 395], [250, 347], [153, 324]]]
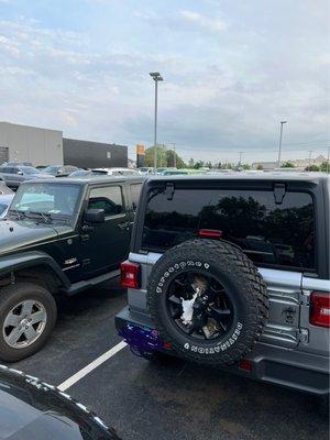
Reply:
[[34, 343], [43, 333], [47, 312], [42, 302], [26, 299], [14, 306], [7, 315], [2, 336], [13, 349], [23, 349]]

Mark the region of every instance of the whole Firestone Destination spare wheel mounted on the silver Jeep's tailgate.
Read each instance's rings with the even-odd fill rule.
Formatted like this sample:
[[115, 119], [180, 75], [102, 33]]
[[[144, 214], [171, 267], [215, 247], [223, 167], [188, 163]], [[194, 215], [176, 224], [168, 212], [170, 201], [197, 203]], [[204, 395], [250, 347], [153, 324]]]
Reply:
[[147, 306], [162, 339], [180, 356], [212, 364], [243, 358], [268, 316], [265, 284], [248, 256], [228, 242], [200, 239], [157, 261]]

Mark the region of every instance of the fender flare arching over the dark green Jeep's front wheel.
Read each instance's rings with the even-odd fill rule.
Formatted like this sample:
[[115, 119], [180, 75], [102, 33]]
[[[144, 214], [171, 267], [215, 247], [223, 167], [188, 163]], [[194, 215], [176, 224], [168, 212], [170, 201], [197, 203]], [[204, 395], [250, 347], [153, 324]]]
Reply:
[[11, 272], [33, 267], [35, 265], [44, 265], [51, 268], [64, 285], [65, 290], [69, 289], [72, 284], [68, 277], [63, 273], [58, 263], [56, 263], [56, 261], [45, 252], [40, 251], [21, 252], [14, 255], [1, 256], [0, 277], [9, 275]]

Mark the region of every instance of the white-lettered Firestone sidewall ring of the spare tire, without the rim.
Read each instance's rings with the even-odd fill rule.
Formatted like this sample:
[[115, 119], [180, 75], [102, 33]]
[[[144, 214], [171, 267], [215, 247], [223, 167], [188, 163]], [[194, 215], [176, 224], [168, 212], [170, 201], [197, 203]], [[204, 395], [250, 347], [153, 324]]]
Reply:
[[[173, 251], [173, 250], [172, 250]], [[197, 255], [199, 255], [197, 257]], [[170, 283], [179, 274], [187, 271], [196, 271], [201, 275], [208, 275], [219, 280], [230, 298], [233, 319], [230, 330], [215, 341], [193, 340], [185, 334], [169, 317], [167, 306], [167, 292]], [[251, 334], [255, 332], [255, 321], [249, 319], [249, 305], [246, 295], [249, 284], [234, 265], [224, 261], [215, 261], [207, 255], [202, 249], [189, 252], [188, 249], [180, 251], [179, 256], [175, 253], [164, 254], [153, 270], [153, 276], [148, 286], [148, 308], [156, 321], [157, 330], [164, 341], [170, 342], [174, 350], [189, 360], [197, 359], [199, 362], [231, 362], [241, 358], [246, 345], [251, 345]]]

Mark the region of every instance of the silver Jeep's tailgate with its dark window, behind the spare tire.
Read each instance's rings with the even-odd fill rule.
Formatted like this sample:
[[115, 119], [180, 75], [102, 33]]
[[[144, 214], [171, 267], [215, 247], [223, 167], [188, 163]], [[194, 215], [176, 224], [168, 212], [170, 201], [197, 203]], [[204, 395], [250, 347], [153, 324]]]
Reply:
[[219, 188], [185, 185], [182, 180], [164, 190], [152, 189], [141, 249], [163, 253], [198, 237], [201, 229], [219, 231], [254, 262], [267, 285], [270, 318], [262, 341], [288, 349], [308, 343], [300, 314], [302, 274], [317, 276], [316, 207], [310, 188], [251, 180], [230, 182], [227, 188], [221, 182]]

